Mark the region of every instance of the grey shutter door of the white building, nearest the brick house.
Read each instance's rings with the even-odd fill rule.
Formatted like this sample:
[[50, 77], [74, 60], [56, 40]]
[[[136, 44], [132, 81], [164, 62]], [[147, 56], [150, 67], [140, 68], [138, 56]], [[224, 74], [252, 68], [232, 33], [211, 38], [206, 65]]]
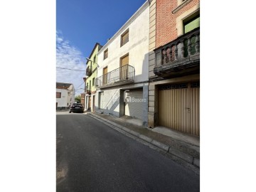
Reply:
[[[128, 96], [131, 98], [131, 101], [125, 103], [124, 114], [130, 117], [143, 119], [143, 90], [129, 90]], [[132, 100], [139, 102], [133, 102]]]

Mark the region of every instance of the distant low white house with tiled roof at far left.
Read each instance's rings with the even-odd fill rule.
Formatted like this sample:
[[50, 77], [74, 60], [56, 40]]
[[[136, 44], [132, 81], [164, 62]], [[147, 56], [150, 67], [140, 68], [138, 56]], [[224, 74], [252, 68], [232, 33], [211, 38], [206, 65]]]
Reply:
[[56, 82], [56, 110], [68, 110], [74, 102], [74, 85], [71, 83]]

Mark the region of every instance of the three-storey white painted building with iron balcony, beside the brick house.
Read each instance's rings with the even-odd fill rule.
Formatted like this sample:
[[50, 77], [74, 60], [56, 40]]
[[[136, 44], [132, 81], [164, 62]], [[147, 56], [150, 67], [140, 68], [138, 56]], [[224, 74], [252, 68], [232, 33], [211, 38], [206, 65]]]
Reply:
[[116, 117], [138, 118], [147, 126], [148, 1], [101, 48], [97, 58], [96, 110]]

